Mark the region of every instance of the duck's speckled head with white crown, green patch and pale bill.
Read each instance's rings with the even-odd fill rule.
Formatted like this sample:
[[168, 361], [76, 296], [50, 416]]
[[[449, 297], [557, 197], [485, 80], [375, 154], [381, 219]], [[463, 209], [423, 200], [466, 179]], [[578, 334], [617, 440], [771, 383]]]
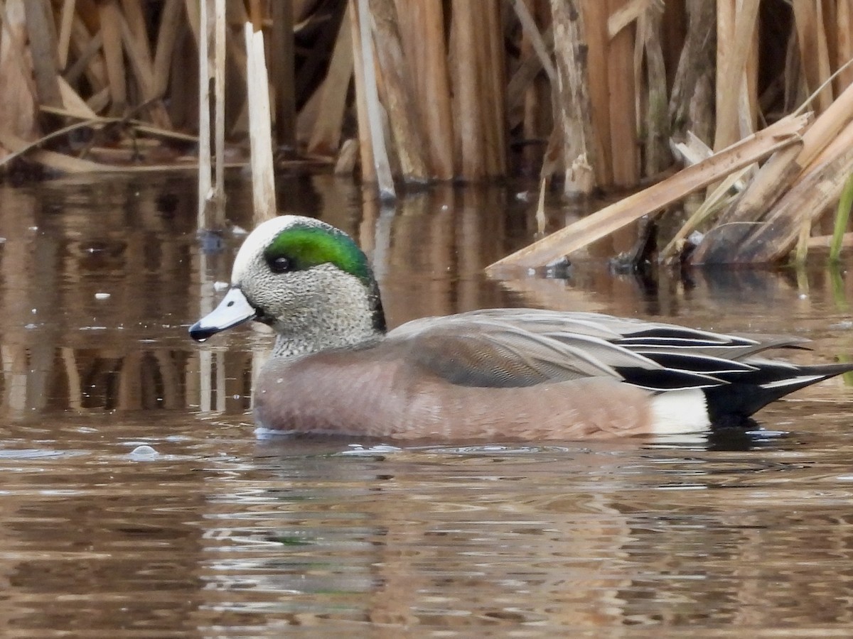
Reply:
[[237, 252], [228, 293], [189, 329], [194, 340], [258, 320], [276, 354], [359, 343], [385, 331], [379, 287], [349, 235], [310, 217], [263, 222]]

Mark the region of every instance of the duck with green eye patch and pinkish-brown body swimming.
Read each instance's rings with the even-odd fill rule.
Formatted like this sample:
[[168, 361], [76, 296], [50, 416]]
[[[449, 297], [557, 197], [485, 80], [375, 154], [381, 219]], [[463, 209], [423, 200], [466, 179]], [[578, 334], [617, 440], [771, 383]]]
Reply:
[[727, 335], [635, 318], [492, 308], [389, 331], [368, 257], [305, 216], [237, 251], [229, 289], [189, 328], [276, 333], [252, 391], [267, 432], [388, 440], [587, 440], [740, 428], [774, 400], [853, 370], [763, 356], [800, 337]]

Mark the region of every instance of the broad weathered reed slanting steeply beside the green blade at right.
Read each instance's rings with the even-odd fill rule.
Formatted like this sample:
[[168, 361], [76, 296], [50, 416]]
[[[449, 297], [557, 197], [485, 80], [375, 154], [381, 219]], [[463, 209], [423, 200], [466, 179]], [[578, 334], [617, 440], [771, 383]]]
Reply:
[[853, 171], [853, 124], [848, 124], [827, 147], [822, 161], [779, 200], [756, 230], [739, 246], [735, 263], [779, 262], [791, 251], [804, 224], [814, 223], [838, 201], [844, 182]]

